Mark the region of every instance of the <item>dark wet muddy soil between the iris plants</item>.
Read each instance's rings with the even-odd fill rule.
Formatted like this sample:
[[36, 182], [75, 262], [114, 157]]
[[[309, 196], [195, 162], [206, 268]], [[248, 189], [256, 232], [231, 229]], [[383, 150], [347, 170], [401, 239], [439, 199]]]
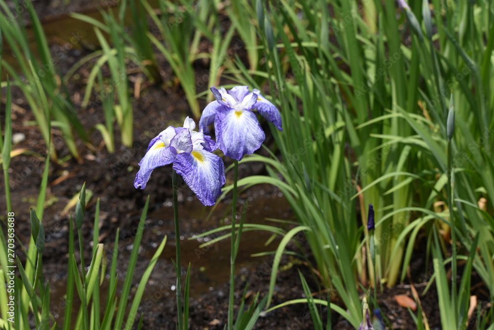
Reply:
[[[37, 11], [47, 25], [56, 25], [58, 19], [65, 20], [70, 11], [90, 11], [94, 5], [90, 1], [70, 1], [64, 5], [63, 1], [35, 1]], [[70, 20], [68, 22], [71, 22]], [[84, 31], [70, 30], [74, 33]], [[79, 28], [77, 28], [79, 29]], [[59, 40], [53, 35], [48, 35], [51, 43], [51, 51], [56, 54], [64, 49], [66, 41]], [[84, 55], [91, 51], [88, 43], [65, 49], [63, 56], [57, 62], [61, 74]], [[207, 45], [206, 45], [207, 46]], [[243, 50], [239, 50], [243, 52]], [[163, 85], [153, 85], [146, 82], [144, 75], [138, 70], [130, 75], [131, 94], [134, 109], [134, 144], [132, 148], [123, 147], [120, 143], [120, 132], [116, 130], [116, 151], [109, 154], [102, 143], [102, 138], [97, 130], [92, 129], [94, 124], [104, 121], [101, 105], [93, 103], [92, 107], [82, 109], [81, 102], [85, 80], [87, 79], [92, 63], [82, 66], [74, 78], [68, 84], [72, 101], [76, 105], [79, 118], [84, 127], [90, 132], [90, 144], [78, 142], [81, 159], [78, 161], [70, 157], [67, 148], [63, 144], [63, 138], [57, 129], [53, 129], [53, 138], [59, 162], [50, 163], [48, 178], [48, 190], [43, 215], [43, 224], [46, 232], [46, 247], [43, 254], [44, 277], [50, 281], [52, 288], [52, 314], [58, 324], [62, 322], [63, 292], [67, 277], [67, 253], [68, 253], [68, 214], [62, 212], [69, 200], [79, 193], [82, 183], [86, 182], [87, 190], [92, 192], [92, 198], [87, 205], [85, 223], [83, 226], [84, 256], [86, 264], [89, 262], [92, 242], [93, 223], [96, 200], [100, 200], [99, 241], [105, 245], [107, 255], [113, 250], [117, 228], [120, 228], [120, 246], [117, 271], [124, 274], [132, 248], [133, 235], [139, 221], [139, 217], [146, 198], [150, 196], [149, 212], [146, 220], [146, 230], [142, 238], [142, 247], [139, 251], [139, 260], [134, 272], [134, 284], [136, 285], [142, 276], [151, 256], [157, 246], [166, 235], [168, 237], [165, 251], [157, 262], [146, 287], [139, 313], [143, 313], [143, 329], [174, 329], [176, 322], [175, 305], [175, 273], [171, 259], [175, 253], [175, 237], [173, 229], [171, 207], [171, 168], [162, 167], [153, 172], [152, 178], [146, 190], [136, 190], [133, 180], [138, 169], [137, 163], [144, 155], [147, 144], [160, 131], [168, 125], [179, 126], [186, 116], [191, 116], [182, 90], [173, 79], [171, 70], [163, 58], [158, 57]], [[198, 71], [207, 69], [205, 64], [195, 63]], [[204, 65], [204, 67], [201, 67]], [[131, 64], [129, 64], [131, 66]], [[108, 70], [103, 73], [108, 77]], [[135, 82], [141, 80], [142, 84], [136, 87]], [[224, 81], [227, 82], [227, 81]], [[138, 88], [139, 92], [135, 93]], [[198, 92], [206, 89], [206, 86], [198, 87]], [[9, 169], [12, 205], [16, 214], [16, 234], [20, 243], [26, 246], [30, 237], [29, 207], [35, 206], [41, 184], [41, 174], [44, 168], [46, 147], [41, 134], [30, 121], [34, 118], [29, 111], [28, 104], [16, 88], [13, 88], [13, 132], [22, 133], [25, 139], [13, 146], [13, 149], [25, 149], [25, 152], [12, 159]], [[3, 91], [4, 93], [4, 91]], [[4, 95], [2, 95], [4, 97]], [[201, 101], [204, 108], [205, 101]], [[0, 119], [4, 123], [4, 108], [2, 104]], [[267, 127], [265, 127], [267, 128]], [[267, 131], [269, 131], [267, 129]], [[272, 137], [268, 136], [267, 145], [272, 144]], [[259, 152], [263, 153], [262, 150]], [[231, 164], [231, 160], [224, 158], [225, 165]], [[240, 176], [252, 174], [264, 174], [261, 164], [241, 165]], [[232, 175], [227, 174], [227, 184], [231, 183]], [[0, 207], [5, 209], [5, 196], [3, 179], [0, 187]], [[272, 186], [253, 187], [240, 195], [239, 207], [248, 201], [247, 222], [273, 224], [265, 218], [277, 218], [294, 220], [290, 207], [281, 193]], [[225, 239], [208, 248], [199, 248], [205, 242], [202, 240], [188, 240], [195, 235], [218, 226], [229, 225], [229, 205], [231, 196], [220, 202], [218, 207], [208, 217], [209, 207], [200, 205], [190, 189], [182, 183], [179, 189], [180, 204], [180, 232], [183, 236], [182, 267], [186, 269], [191, 263], [191, 312], [190, 329], [223, 329], [228, 310], [229, 292], [229, 249], [230, 241]], [[288, 227], [287, 227], [288, 228]], [[224, 231], [223, 233], [227, 233]], [[251, 257], [252, 253], [273, 251], [276, 249], [279, 238], [265, 246], [264, 243], [270, 235], [263, 232], [246, 232], [243, 235], [241, 251], [237, 263], [236, 280], [236, 304], [240, 302], [240, 296], [248, 284], [247, 295], [249, 299], [256, 292], [266, 294], [269, 286], [269, 276], [273, 263], [272, 256]], [[211, 237], [209, 237], [211, 239]], [[303, 238], [298, 243], [303, 248], [303, 253], [311, 260], [310, 250]], [[289, 246], [290, 250], [300, 252], [295, 245]], [[21, 258], [22, 252], [18, 249]], [[423, 280], [430, 277], [431, 269], [425, 264], [423, 251], [416, 251], [417, 257], [411, 266], [411, 274], [415, 287], [422, 292]], [[277, 285], [271, 306], [290, 299], [304, 297], [304, 292], [299, 280], [298, 271], [307, 279], [313, 292], [321, 289], [318, 287], [317, 276], [311, 272], [307, 261], [293, 256], [285, 255], [281, 260], [281, 270], [277, 277]], [[103, 285], [105, 286], [105, 285]], [[134, 288], [135, 289], [135, 288]], [[325, 292], [315, 295], [326, 299]], [[364, 294], [364, 293], [363, 293]], [[383, 315], [389, 320], [392, 329], [414, 329], [414, 323], [407, 309], [400, 307], [394, 299], [396, 294], [411, 296], [409, 283], [400, 284], [392, 289], [384, 289], [377, 296], [378, 305]], [[429, 320], [430, 329], [440, 329], [440, 317], [437, 306], [437, 295], [434, 286], [425, 296], [421, 296], [422, 307]], [[331, 294], [332, 302], [339, 303], [335, 294]], [[57, 306], [61, 306], [57, 309]], [[326, 320], [326, 309], [321, 309], [321, 315]], [[324, 321], [326, 322], [326, 321]], [[334, 329], [353, 329], [341, 316], [332, 313], [332, 325]], [[280, 308], [259, 318], [255, 329], [313, 329], [312, 320], [305, 304], [292, 305]]]

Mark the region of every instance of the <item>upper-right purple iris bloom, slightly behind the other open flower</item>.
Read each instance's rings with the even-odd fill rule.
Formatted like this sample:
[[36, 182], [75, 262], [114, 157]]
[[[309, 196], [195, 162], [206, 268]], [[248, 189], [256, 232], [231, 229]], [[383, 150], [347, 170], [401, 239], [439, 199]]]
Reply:
[[204, 109], [199, 127], [207, 134], [207, 125], [214, 122], [218, 149], [226, 156], [240, 161], [244, 155], [261, 147], [266, 136], [253, 110], [278, 130], [283, 130], [280, 112], [258, 89], [249, 92], [247, 86], [235, 86], [230, 90], [211, 87], [211, 91], [216, 101]]

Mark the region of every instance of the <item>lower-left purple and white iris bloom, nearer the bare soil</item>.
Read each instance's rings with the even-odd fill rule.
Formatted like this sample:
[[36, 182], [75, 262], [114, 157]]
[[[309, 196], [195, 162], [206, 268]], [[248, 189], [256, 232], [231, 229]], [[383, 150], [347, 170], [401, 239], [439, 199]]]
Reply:
[[183, 127], [168, 126], [151, 140], [146, 155], [139, 163], [134, 187], [146, 188], [153, 169], [173, 163], [173, 169], [196, 194], [201, 203], [214, 205], [225, 184], [223, 161], [212, 152], [216, 143], [203, 132], [195, 132], [196, 124], [187, 117]]

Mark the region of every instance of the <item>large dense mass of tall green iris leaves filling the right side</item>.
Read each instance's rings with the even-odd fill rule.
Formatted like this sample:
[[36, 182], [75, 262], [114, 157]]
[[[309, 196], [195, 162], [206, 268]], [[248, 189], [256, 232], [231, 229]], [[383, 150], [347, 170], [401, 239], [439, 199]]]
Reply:
[[[324, 283], [352, 316], [360, 314], [356, 279], [367, 272], [373, 285], [394, 286], [400, 273], [401, 280], [406, 275], [419, 231], [425, 230], [430, 246], [431, 229], [449, 230], [449, 218], [457, 222], [454, 246], [470, 249], [473, 233], [481, 232], [474, 267], [493, 294], [492, 217], [476, 207], [482, 197], [492, 205], [494, 197], [494, 100], [485, 92], [494, 78], [493, 4], [434, 1], [431, 17], [428, 2], [419, 1], [397, 21], [394, 1], [374, 1], [373, 33], [357, 1], [329, 3], [331, 15], [328, 1], [316, 0], [282, 0], [267, 6], [267, 15], [257, 1], [266, 65], [249, 71], [238, 61], [230, 73], [255, 88], [269, 84], [289, 134], [272, 130], [282, 163], [257, 156], [246, 161], [269, 166], [299, 221], [313, 229], [306, 236]], [[404, 31], [412, 31], [410, 42]], [[454, 112], [447, 121], [450, 98]], [[450, 170], [446, 151], [454, 122]], [[440, 210], [434, 204], [448, 205], [448, 173], [453, 203]], [[362, 234], [368, 233], [355, 213], [360, 206], [365, 224], [368, 204], [376, 209], [376, 279], [373, 263], [367, 260], [367, 270], [362, 264], [368, 253]], [[448, 243], [442, 242], [443, 251]], [[458, 304], [465, 304], [461, 299]]]

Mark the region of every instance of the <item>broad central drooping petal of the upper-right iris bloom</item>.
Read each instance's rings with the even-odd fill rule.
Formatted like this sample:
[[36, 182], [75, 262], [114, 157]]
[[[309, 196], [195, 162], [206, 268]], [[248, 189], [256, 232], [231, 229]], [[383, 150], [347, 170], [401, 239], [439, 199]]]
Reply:
[[261, 147], [264, 131], [251, 111], [223, 111], [214, 122], [218, 148], [238, 161]]

